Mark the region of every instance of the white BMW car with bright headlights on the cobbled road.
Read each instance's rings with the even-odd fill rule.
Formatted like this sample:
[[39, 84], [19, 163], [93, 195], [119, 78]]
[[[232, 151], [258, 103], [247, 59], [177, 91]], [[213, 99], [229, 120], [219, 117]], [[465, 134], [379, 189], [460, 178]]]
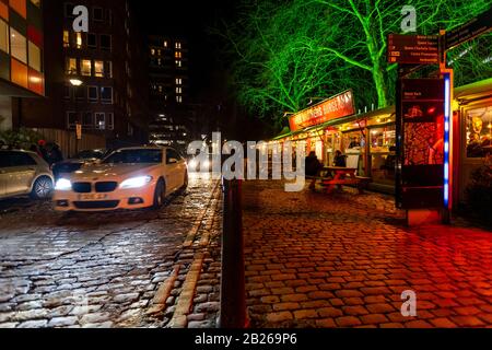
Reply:
[[160, 208], [167, 195], [188, 186], [186, 161], [171, 148], [126, 148], [101, 163], [59, 178], [58, 211]]

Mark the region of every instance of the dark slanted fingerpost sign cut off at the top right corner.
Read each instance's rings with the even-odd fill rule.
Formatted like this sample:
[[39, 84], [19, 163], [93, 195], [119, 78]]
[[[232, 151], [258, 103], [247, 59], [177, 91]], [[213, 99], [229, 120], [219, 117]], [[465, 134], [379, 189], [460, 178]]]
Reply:
[[446, 33], [445, 49], [452, 48], [471, 40], [476, 36], [485, 33], [492, 28], [492, 8], [481, 13], [470, 22], [460, 25], [453, 31]]

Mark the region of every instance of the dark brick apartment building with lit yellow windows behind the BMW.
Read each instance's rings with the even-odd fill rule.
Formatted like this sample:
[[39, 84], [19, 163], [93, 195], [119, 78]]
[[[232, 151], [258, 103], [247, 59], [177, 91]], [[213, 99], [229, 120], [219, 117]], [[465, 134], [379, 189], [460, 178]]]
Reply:
[[[89, 33], [72, 30], [75, 4], [89, 9]], [[74, 137], [80, 124], [84, 148], [147, 143], [149, 94], [142, 88], [149, 84], [148, 56], [131, 3], [49, 0], [43, 13], [46, 98], [14, 103], [14, 126]], [[71, 145], [65, 152], [75, 150]]]

